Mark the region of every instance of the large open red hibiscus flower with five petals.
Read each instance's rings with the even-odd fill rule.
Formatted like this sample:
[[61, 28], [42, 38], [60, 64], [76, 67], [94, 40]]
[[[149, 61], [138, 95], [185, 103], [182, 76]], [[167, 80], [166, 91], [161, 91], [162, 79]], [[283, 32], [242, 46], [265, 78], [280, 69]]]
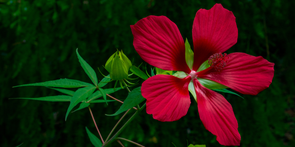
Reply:
[[[191, 68], [186, 62], [186, 48], [176, 26], [165, 16], [148, 16], [131, 25], [133, 45], [148, 64], [169, 71], [183, 71], [185, 78], [156, 75], [142, 83], [146, 111], [159, 121], [176, 121], [185, 116], [190, 106], [189, 83], [192, 81], [198, 111], [205, 128], [226, 146], [240, 145], [238, 123], [232, 106], [219, 93], [201, 84], [212, 80], [242, 94], [256, 95], [271, 84], [273, 63], [261, 56], [245, 53], [221, 54], [237, 43], [235, 16], [215, 4], [210, 10], [200, 9], [193, 23], [194, 57]], [[198, 71], [209, 59], [210, 67]]]

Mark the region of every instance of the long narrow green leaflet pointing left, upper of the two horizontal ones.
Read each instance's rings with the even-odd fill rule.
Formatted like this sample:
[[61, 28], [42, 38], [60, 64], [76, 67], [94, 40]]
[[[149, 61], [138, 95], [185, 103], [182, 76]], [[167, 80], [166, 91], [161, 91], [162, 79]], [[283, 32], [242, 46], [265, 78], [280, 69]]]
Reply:
[[20, 86], [48, 86], [48, 87], [62, 87], [62, 88], [77, 88], [77, 87], [86, 87], [86, 86], [94, 86], [89, 83], [81, 82], [78, 80], [71, 80], [71, 79], [59, 79], [54, 81], [47, 81], [42, 83], [35, 83], [35, 84], [24, 84], [14, 87]]

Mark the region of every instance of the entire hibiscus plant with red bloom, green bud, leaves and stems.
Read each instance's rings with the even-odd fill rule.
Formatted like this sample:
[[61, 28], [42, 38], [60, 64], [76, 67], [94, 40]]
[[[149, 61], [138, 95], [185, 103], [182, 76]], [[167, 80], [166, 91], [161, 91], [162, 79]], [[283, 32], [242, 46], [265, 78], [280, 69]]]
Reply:
[[[130, 27], [134, 37], [135, 51], [144, 61], [155, 67], [156, 75], [153, 69], [151, 76], [147, 71], [145, 74], [135, 66], [138, 63], [132, 63], [122, 50], [113, 50], [115, 53], [104, 66], [109, 75], [99, 81], [95, 71], [83, 60], [76, 49], [81, 66], [93, 83], [65, 78], [20, 85], [46, 86], [66, 94], [23, 99], [69, 101], [70, 105], [65, 114], [65, 120], [69, 117], [70, 112], [88, 107], [100, 138], [92, 134], [86, 127], [86, 132], [94, 146], [108, 146], [114, 141], [123, 146], [120, 140], [142, 146], [120, 138], [120, 133], [145, 107], [146, 112], [152, 114], [153, 118], [158, 121], [179, 120], [186, 115], [189, 109], [190, 92], [198, 103], [198, 113], [205, 128], [217, 136], [216, 140], [221, 145], [239, 146], [241, 136], [232, 106], [216, 91], [233, 93], [227, 90], [227, 88], [231, 88], [242, 94], [256, 95], [271, 84], [274, 64], [261, 56], [224, 53], [237, 43], [238, 29], [233, 13], [224, 9], [221, 4], [215, 4], [209, 10], [200, 9], [197, 11], [192, 29], [194, 52], [187, 39], [183, 40], [176, 24], [166, 16], [148, 16]], [[133, 82], [136, 81], [134, 76], [145, 80], [141, 86], [137, 86], [137, 82]], [[103, 89], [103, 86], [112, 81], [115, 82], [114, 88]], [[118, 87], [117, 84], [119, 84]], [[130, 91], [129, 87], [132, 87], [133, 90]], [[78, 90], [71, 91], [64, 88], [78, 88]], [[124, 91], [121, 89], [126, 89], [125, 92], [128, 92], [124, 101], [110, 95], [114, 92], [123, 93]], [[145, 100], [146, 102], [142, 104]], [[116, 113], [107, 116], [115, 116], [123, 112], [124, 115], [104, 140], [99, 132], [101, 126], [96, 125], [89, 105], [91, 103], [108, 104], [112, 101], [120, 102], [122, 106]], [[79, 108], [73, 111], [73, 108], [78, 104], [80, 104]], [[130, 109], [135, 109], [136, 112], [111, 137], [115, 128]]]

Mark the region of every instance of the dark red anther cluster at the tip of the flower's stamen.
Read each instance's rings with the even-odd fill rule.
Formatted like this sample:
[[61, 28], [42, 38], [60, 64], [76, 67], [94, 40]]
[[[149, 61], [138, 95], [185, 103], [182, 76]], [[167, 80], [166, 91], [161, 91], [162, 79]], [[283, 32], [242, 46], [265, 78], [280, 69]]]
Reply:
[[220, 71], [222, 70], [222, 68], [224, 68], [224, 66], [226, 66], [226, 63], [228, 62], [227, 60], [230, 59], [230, 57], [226, 55], [226, 53], [216, 53], [209, 57], [208, 64], [212, 66], [215, 69], [215, 71]]

